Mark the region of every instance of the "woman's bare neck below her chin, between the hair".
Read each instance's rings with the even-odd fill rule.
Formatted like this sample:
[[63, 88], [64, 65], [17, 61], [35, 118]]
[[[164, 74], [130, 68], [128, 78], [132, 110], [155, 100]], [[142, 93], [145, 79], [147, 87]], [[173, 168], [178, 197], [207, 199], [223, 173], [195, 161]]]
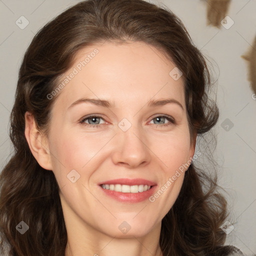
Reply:
[[66, 223], [65, 256], [162, 256], [159, 246], [161, 223], [143, 236], [109, 235], [86, 223]]

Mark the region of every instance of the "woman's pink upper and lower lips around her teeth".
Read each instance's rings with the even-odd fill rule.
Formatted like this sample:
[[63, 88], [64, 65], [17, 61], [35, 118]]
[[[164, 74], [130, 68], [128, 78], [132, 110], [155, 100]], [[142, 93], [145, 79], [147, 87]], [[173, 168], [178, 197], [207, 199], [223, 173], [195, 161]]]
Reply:
[[[144, 184], [144, 185], [150, 185], [151, 188], [149, 190], [143, 191], [143, 192], [138, 192], [138, 193], [123, 193], [123, 192], [117, 192], [114, 190], [109, 190], [109, 189], [104, 189], [103, 187], [100, 186], [100, 184], [122, 184], [122, 185], [139, 185], [139, 184]], [[102, 192], [104, 192], [107, 196], [119, 201], [119, 202], [124, 202], [124, 203], [137, 203], [137, 202], [142, 202], [151, 196], [157, 185], [155, 182], [142, 179], [142, 178], [135, 178], [135, 179], [126, 179], [126, 178], [120, 178], [120, 179], [112, 179], [112, 180], [107, 180], [104, 182], [101, 182], [98, 184], [99, 188], [101, 189]]]

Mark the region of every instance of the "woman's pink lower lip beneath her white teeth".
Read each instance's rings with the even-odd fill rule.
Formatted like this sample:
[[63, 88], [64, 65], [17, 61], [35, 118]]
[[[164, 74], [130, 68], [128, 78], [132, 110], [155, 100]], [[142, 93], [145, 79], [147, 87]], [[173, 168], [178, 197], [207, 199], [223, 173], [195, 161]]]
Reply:
[[156, 185], [151, 186], [149, 190], [138, 192], [138, 193], [123, 193], [123, 192], [117, 192], [114, 190], [104, 189], [101, 186], [99, 186], [103, 192], [112, 197], [113, 199], [120, 201], [120, 202], [129, 202], [129, 203], [136, 203], [136, 202], [142, 202], [151, 196], [156, 188]]

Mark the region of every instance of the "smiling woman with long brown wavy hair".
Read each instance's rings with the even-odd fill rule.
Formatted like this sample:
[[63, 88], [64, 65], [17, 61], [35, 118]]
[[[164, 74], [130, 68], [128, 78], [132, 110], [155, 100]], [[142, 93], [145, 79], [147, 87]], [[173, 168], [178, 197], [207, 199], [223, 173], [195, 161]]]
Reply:
[[[19, 71], [1, 172], [9, 255], [231, 255], [226, 201], [193, 160], [218, 119], [181, 21], [87, 0], [46, 24]], [[206, 189], [207, 187], [207, 189]]]

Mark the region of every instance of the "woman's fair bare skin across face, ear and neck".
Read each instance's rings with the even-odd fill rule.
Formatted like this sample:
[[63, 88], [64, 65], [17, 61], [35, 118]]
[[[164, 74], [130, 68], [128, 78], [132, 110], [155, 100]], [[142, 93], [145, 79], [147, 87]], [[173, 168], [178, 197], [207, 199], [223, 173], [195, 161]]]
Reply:
[[[191, 159], [194, 143], [190, 144], [183, 79], [172, 79], [169, 72], [175, 64], [143, 42], [82, 48], [62, 77], [95, 48], [95, 57], [58, 92], [47, 136], [37, 130], [32, 115], [25, 114], [26, 139], [38, 163], [52, 170], [59, 184], [68, 236], [65, 256], [161, 255], [161, 220], [178, 196], [184, 172], [153, 202], [117, 201], [98, 183], [144, 178], [157, 183], [157, 191]], [[83, 97], [105, 99], [114, 107], [88, 102], [69, 107]], [[177, 103], [147, 106], [149, 100], [167, 97], [183, 109]], [[88, 124], [93, 118], [79, 122], [89, 114], [102, 115], [96, 119], [100, 126]], [[175, 123], [156, 118], [162, 115]], [[123, 118], [131, 123], [126, 131], [118, 127]], [[66, 177], [72, 169], [80, 175], [74, 183]], [[123, 221], [130, 226], [125, 234], [118, 228]]]

